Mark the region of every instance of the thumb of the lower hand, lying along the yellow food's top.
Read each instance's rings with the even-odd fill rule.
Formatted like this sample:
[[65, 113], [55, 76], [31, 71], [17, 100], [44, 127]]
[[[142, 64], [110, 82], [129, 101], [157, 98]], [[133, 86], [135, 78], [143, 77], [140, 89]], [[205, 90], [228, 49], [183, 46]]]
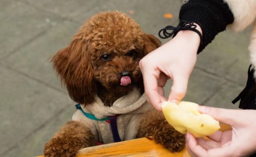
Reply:
[[234, 126], [238, 124], [239, 119], [239, 110], [229, 110], [229, 109], [221, 109], [221, 108], [211, 108], [211, 107], [205, 107], [200, 106], [198, 108], [199, 112], [208, 114], [212, 118], [221, 121], [223, 123], [229, 124], [231, 126]]

